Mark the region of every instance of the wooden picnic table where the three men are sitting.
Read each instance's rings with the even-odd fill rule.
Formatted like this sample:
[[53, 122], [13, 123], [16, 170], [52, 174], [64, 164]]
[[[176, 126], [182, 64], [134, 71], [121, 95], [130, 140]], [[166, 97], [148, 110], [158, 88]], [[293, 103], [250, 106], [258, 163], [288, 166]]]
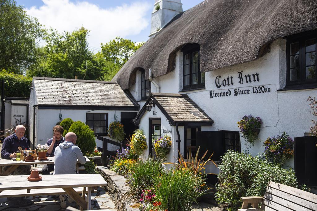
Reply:
[[[86, 158], [86, 162], [90, 162], [90, 160], [86, 156], [85, 158]], [[0, 158], [0, 176], [8, 176], [14, 170], [16, 170], [16, 168], [19, 167], [20, 165], [54, 164], [54, 159], [55, 157], [48, 157], [47, 161], [35, 160], [34, 162], [25, 162], [23, 160], [14, 161], [11, 159]], [[77, 165], [76, 165], [77, 172], [78, 172], [78, 164], [79, 164], [79, 161], [77, 160]], [[2, 166], [10, 166], [10, 167], [6, 171], [2, 172]]]

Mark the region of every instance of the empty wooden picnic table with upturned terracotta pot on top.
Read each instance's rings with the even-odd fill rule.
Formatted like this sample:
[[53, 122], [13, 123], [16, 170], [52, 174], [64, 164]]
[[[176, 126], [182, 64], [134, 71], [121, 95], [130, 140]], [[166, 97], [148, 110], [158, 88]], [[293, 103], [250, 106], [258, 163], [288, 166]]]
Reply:
[[[107, 182], [100, 174], [55, 174], [41, 175], [42, 180], [29, 182], [28, 175], [3, 176], [0, 181], [0, 193], [3, 190], [20, 190], [29, 193], [31, 189], [62, 188], [83, 209], [91, 210], [92, 187], [106, 186]], [[81, 196], [74, 188], [83, 187]], [[86, 187], [87, 199], [85, 198]], [[44, 192], [41, 195], [46, 195]], [[47, 192], [49, 194], [49, 191]], [[1, 195], [0, 195], [1, 197]], [[14, 197], [14, 196], [11, 196]]]

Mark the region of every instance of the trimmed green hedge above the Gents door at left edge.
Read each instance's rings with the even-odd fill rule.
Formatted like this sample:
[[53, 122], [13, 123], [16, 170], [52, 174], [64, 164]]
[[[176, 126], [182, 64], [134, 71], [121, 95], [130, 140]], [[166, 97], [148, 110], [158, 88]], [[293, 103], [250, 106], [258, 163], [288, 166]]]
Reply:
[[19, 74], [9, 73], [8, 71], [2, 70], [0, 72], [1, 91], [3, 89], [2, 87], [3, 79], [4, 79], [4, 96], [30, 97], [30, 87], [32, 84], [32, 78], [19, 75]]

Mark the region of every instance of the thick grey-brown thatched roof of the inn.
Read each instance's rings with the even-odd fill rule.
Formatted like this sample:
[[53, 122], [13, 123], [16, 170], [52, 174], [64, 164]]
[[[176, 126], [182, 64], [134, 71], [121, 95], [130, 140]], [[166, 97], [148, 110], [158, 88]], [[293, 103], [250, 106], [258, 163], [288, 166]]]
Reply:
[[174, 53], [187, 43], [200, 45], [200, 70], [207, 72], [255, 60], [265, 44], [316, 28], [317, 0], [206, 0], [175, 16], [113, 81], [128, 89], [138, 68], [165, 75], [173, 70]]

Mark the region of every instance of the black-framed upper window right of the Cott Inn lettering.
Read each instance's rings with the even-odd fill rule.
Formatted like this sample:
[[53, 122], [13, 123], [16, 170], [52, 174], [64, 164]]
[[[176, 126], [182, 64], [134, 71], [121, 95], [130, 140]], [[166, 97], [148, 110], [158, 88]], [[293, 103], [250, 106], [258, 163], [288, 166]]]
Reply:
[[287, 38], [287, 87], [316, 87], [317, 31]]

